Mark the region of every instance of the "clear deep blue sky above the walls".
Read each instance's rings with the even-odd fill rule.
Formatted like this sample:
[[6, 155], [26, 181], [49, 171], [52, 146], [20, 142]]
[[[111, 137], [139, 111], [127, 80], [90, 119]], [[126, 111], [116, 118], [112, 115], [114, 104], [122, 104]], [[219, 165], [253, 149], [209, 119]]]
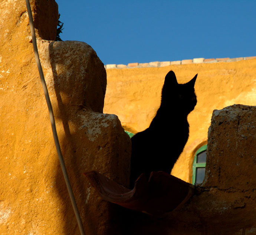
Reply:
[[256, 0], [56, 0], [104, 64], [256, 56]]

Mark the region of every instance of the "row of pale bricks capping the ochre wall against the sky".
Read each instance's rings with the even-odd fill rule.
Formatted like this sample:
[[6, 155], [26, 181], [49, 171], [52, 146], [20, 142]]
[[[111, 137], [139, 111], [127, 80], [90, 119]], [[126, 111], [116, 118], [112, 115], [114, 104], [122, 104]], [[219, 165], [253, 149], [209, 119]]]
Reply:
[[216, 59], [204, 59], [204, 58], [196, 58], [193, 60], [177, 60], [177, 61], [164, 61], [164, 62], [149, 62], [149, 63], [129, 63], [125, 64], [106, 64], [105, 69], [126, 69], [126, 68], [145, 68], [145, 67], [164, 67], [174, 64], [198, 64], [198, 63], [215, 63], [215, 62], [234, 62], [239, 60], [249, 60], [256, 59], [256, 56], [250, 57], [238, 57], [238, 58], [216, 58]]

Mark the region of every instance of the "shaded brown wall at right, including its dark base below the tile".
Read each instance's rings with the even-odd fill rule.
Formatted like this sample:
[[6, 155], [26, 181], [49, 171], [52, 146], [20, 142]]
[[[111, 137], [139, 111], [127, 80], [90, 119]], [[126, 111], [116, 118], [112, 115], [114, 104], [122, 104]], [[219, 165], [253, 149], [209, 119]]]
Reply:
[[182, 207], [161, 216], [126, 213], [122, 234], [255, 235], [256, 106], [214, 110], [206, 177]]

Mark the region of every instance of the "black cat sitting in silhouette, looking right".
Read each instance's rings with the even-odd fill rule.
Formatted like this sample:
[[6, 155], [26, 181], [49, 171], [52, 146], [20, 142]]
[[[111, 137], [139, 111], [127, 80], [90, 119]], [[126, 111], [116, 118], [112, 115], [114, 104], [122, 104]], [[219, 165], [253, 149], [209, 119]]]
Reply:
[[165, 76], [161, 105], [149, 128], [131, 138], [130, 188], [145, 173], [152, 171], [171, 173], [188, 140], [188, 114], [197, 103], [194, 84], [197, 75], [185, 84], [178, 84], [175, 73]]

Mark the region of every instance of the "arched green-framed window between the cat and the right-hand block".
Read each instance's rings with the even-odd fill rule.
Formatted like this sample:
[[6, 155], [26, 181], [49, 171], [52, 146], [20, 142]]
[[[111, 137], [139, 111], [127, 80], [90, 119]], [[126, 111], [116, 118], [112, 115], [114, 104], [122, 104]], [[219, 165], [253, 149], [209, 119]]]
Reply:
[[192, 175], [193, 185], [196, 183], [202, 183], [204, 180], [205, 165], [206, 165], [206, 149], [207, 149], [207, 145], [204, 145], [203, 147], [198, 149], [196, 152], [194, 162], [193, 162], [193, 175]]

